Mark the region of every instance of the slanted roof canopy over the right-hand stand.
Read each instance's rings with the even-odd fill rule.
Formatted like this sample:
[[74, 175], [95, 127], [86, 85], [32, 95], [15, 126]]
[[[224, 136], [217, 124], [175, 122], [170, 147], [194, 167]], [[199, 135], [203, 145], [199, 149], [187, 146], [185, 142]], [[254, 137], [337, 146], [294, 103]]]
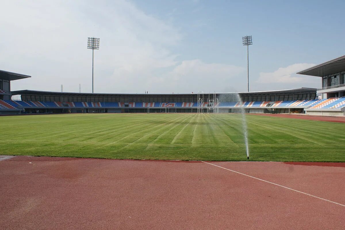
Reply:
[[345, 71], [345, 55], [330, 61], [326, 61], [325, 63], [318, 64], [317, 66], [313, 66], [309, 69], [302, 70], [298, 72], [298, 74], [324, 77], [343, 71]]

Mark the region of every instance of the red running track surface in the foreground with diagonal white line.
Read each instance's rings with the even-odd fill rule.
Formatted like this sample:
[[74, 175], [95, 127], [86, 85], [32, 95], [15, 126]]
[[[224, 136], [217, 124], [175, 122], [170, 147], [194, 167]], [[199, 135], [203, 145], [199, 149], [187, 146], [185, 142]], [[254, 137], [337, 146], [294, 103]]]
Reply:
[[0, 229], [345, 229], [345, 163], [210, 163], [4, 159]]

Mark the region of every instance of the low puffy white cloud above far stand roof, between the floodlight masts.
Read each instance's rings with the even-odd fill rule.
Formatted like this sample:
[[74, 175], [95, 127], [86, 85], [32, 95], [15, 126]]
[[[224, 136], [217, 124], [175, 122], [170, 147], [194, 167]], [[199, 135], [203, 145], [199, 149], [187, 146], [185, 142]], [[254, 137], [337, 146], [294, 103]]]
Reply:
[[[119, 92], [128, 92], [123, 89], [130, 85], [130, 92], [141, 93], [148, 90], [150, 93], [190, 93], [198, 90], [225, 92], [224, 90], [229, 86], [234, 85], [238, 74], [244, 73], [242, 67], [204, 63], [198, 59], [182, 61], [172, 70], [166, 70], [165, 68], [164, 72], [158, 71], [158, 73], [155, 71], [129, 73], [128, 70], [122, 69], [114, 72], [113, 76], [119, 79]], [[136, 77], [138, 75], [140, 78]]]

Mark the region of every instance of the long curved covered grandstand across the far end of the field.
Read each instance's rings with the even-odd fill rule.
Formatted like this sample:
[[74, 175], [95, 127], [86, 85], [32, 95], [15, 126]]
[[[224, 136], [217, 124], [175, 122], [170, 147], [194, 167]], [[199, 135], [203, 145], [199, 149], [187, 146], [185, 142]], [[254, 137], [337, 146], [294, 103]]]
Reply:
[[[198, 94], [137, 94], [137, 93], [75, 93], [35, 90], [12, 91], [21, 100], [3, 100], [7, 107], [25, 113], [121, 113], [121, 112], [197, 112]], [[235, 93], [204, 93], [201, 105], [204, 112], [215, 99], [215, 112], [238, 112], [245, 108], [249, 113], [302, 113], [305, 108], [319, 102], [316, 89], [298, 88], [276, 91], [240, 92], [243, 102]], [[215, 98], [214, 98], [215, 96]]]

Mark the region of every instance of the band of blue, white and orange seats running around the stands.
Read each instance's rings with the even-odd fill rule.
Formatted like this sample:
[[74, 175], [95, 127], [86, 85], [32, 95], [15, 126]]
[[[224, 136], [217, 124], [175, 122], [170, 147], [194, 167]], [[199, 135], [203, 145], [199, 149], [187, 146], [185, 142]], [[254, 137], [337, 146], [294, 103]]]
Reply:
[[[197, 108], [197, 102], [59, 102], [59, 101], [12, 101], [0, 100], [0, 109], [21, 109], [21, 108]], [[321, 100], [304, 101], [245, 101], [245, 102], [220, 102], [219, 108], [228, 107], [304, 107], [304, 108], [343, 108], [345, 107], [345, 97], [330, 98]], [[203, 103], [207, 107], [207, 102]]]

